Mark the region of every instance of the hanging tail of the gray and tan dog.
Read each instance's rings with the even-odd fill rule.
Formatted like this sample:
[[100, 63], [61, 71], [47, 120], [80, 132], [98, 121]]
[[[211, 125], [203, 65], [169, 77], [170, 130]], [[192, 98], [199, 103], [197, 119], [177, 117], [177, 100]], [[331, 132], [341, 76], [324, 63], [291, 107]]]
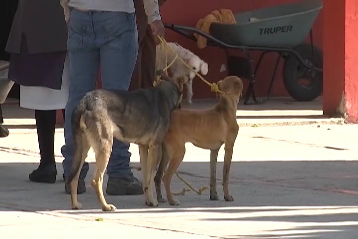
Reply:
[[[87, 153], [84, 151], [85, 147], [89, 147], [88, 139], [86, 138], [85, 130], [87, 128], [85, 116], [85, 110], [81, 109], [81, 105], [77, 107], [72, 113], [71, 126], [72, 126], [72, 138], [74, 158], [72, 159], [72, 165], [68, 182], [71, 182], [76, 174], [81, 170]], [[86, 153], [86, 155], [84, 155]]]

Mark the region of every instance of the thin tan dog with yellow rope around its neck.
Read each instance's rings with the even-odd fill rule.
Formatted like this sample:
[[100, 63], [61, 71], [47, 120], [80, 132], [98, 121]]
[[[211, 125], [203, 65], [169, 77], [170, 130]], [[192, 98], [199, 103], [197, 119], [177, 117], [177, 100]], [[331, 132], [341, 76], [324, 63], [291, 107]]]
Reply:
[[[231, 158], [239, 125], [236, 122], [236, 110], [242, 96], [243, 83], [236, 76], [226, 77], [218, 82], [220, 101], [213, 108], [207, 110], [174, 110], [171, 122], [164, 139], [163, 158], [154, 179], [157, 190], [157, 200], [165, 202], [161, 193], [161, 179], [163, 177], [167, 198], [170, 205], [179, 205], [171, 193], [171, 180], [177, 171], [185, 154], [185, 143], [191, 142], [197, 147], [210, 149], [210, 200], [218, 200], [216, 193], [216, 162], [219, 149], [225, 144], [224, 157], [224, 198], [233, 201], [229, 194], [229, 171]], [[167, 164], [169, 167], [167, 170]]]

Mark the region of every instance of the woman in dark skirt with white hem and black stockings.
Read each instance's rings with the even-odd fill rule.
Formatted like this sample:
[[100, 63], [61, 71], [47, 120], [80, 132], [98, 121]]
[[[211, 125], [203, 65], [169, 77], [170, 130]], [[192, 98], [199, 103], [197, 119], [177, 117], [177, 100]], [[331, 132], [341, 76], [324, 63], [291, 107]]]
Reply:
[[20, 85], [20, 107], [35, 110], [41, 159], [29, 175], [34, 182], [56, 181], [56, 110], [65, 108], [69, 92], [65, 2], [19, 0], [6, 45], [8, 78]]

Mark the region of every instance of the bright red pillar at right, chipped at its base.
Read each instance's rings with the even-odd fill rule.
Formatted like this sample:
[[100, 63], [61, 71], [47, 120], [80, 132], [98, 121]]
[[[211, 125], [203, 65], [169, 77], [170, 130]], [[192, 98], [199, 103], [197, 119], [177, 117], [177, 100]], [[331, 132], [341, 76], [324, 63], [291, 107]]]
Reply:
[[339, 109], [353, 123], [358, 122], [357, 12], [357, 0], [326, 0], [323, 113], [335, 115]]

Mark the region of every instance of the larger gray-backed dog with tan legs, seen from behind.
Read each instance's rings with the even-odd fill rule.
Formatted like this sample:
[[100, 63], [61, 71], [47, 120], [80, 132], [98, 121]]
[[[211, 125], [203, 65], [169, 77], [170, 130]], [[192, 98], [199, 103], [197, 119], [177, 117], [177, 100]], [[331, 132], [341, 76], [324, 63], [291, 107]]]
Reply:
[[153, 178], [160, 163], [161, 145], [169, 128], [170, 114], [181, 103], [183, 82], [169, 78], [163, 71], [157, 74], [163, 79], [157, 87], [134, 92], [95, 90], [75, 108], [72, 115], [75, 157], [69, 177], [72, 209], [82, 208], [77, 200], [77, 185], [90, 147], [96, 160], [91, 185], [103, 211], [116, 209], [107, 204], [103, 196], [103, 174], [113, 137], [139, 145], [146, 204], [159, 205], [153, 196]]

